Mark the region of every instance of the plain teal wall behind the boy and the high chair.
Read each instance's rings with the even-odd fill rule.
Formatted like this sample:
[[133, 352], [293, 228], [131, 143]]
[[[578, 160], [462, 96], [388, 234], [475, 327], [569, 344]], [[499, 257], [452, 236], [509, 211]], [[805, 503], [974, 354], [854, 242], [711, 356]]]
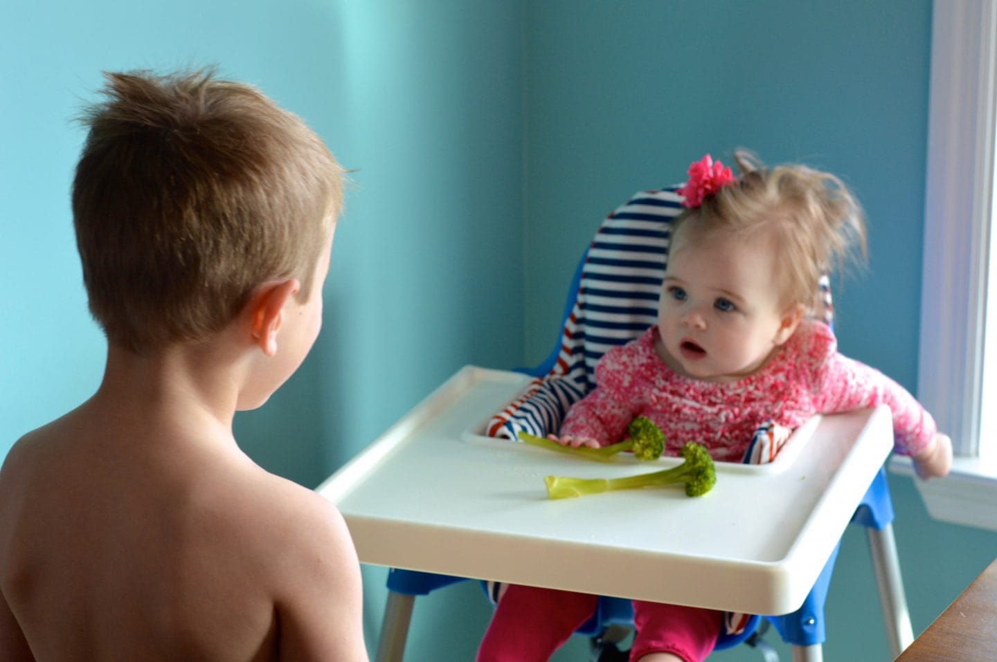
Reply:
[[[871, 265], [838, 288], [840, 344], [915, 385], [927, 0], [9, 4], [0, 456], [101, 375], [68, 190], [83, 137], [71, 117], [102, 70], [218, 63], [302, 115], [356, 169], [322, 336], [265, 407], [236, 421], [250, 455], [303, 485], [460, 365], [542, 358], [601, 217], [680, 179], [705, 151], [805, 159], [853, 186]], [[919, 631], [997, 555], [997, 535], [931, 521], [911, 482], [890, 480]], [[370, 646], [384, 576], [365, 568]], [[828, 659], [887, 657], [870, 581], [862, 534], [849, 532]], [[410, 659], [471, 659], [488, 615], [471, 583], [421, 598]], [[572, 641], [555, 659], [582, 659], [583, 648]]]

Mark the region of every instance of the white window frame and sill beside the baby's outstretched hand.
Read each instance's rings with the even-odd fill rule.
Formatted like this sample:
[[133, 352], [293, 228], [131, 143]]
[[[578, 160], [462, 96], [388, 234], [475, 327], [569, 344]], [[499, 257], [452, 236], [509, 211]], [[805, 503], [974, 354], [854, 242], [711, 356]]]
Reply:
[[[997, 531], [997, 321], [991, 320], [989, 331], [985, 323], [988, 290], [991, 315], [997, 315], [997, 264], [988, 270], [990, 256], [997, 255], [997, 230], [991, 232], [997, 228], [995, 76], [997, 5], [936, 0], [917, 395], [952, 437], [956, 458], [948, 477], [916, 485], [933, 518], [992, 531]], [[985, 358], [991, 363], [986, 370]], [[892, 467], [912, 475], [904, 460], [894, 459]]]

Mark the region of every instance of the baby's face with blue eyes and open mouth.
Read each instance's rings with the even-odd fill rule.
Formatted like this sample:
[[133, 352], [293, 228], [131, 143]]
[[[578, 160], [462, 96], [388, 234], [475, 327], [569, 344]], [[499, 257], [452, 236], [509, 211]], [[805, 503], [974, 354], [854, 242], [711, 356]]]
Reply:
[[[657, 351], [679, 374], [736, 381], [789, 338], [776, 286], [776, 248], [764, 237], [687, 232], [673, 237], [658, 306]], [[795, 325], [794, 325], [795, 328]]]

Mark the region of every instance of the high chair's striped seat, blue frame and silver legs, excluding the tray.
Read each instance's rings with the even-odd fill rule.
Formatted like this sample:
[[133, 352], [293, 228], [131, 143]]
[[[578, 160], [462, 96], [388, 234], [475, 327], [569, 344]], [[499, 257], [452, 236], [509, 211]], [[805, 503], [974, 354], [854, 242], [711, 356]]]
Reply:
[[[594, 367], [602, 354], [637, 337], [656, 323], [671, 222], [682, 209], [676, 190], [672, 187], [639, 192], [603, 221], [574, 275], [558, 345], [540, 366], [523, 370], [534, 379], [521, 397], [489, 421], [490, 436], [515, 439], [519, 431], [540, 436], [555, 432], [571, 404], [594, 384]], [[831, 294], [827, 283], [822, 285], [822, 290], [826, 304], [824, 319], [831, 324]], [[851, 521], [866, 528], [883, 618], [895, 657], [913, 640], [913, 634], [900, 579], [892, 519], [885, 474], [880, 469]], [[797, 611], [765, 617], [783, 640], [793, 645], [794, 660], [822, 660], [821, 644], [826, 634], [824, 603], [836, 553], [835, 547]], [[460, 580], [460, 577], [392, 569], [388, 577], [389, 599], [378, 662], [402, 659], [414, 597]], [[626, 623], [632, 616], [629, 600], [621, 598], [600, 598], [597, 611], [578, 630], [596, 641], [607, 639], [604, 635], [607, 626]], [[736, 633], [722, 633], [717, 648], [730, 647], [753, 637], [761, 621], [757, 615], [747, 617], [739, 631], [732, 628]], [[766, 660], [778, 659], [771, 648], [763, 645], [760, 650]], [[593, 659], [599, 659], [599, 654], [597, 650]]]

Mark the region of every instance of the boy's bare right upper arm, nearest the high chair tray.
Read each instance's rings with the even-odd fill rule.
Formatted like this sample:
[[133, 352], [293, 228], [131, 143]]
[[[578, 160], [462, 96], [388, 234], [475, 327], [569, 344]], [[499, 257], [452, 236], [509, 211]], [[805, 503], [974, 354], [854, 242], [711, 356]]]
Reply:
[[343, 517], [319, 495], [295, 514], [277, 600], [281, 660], [367, 662], [360, 564]]

